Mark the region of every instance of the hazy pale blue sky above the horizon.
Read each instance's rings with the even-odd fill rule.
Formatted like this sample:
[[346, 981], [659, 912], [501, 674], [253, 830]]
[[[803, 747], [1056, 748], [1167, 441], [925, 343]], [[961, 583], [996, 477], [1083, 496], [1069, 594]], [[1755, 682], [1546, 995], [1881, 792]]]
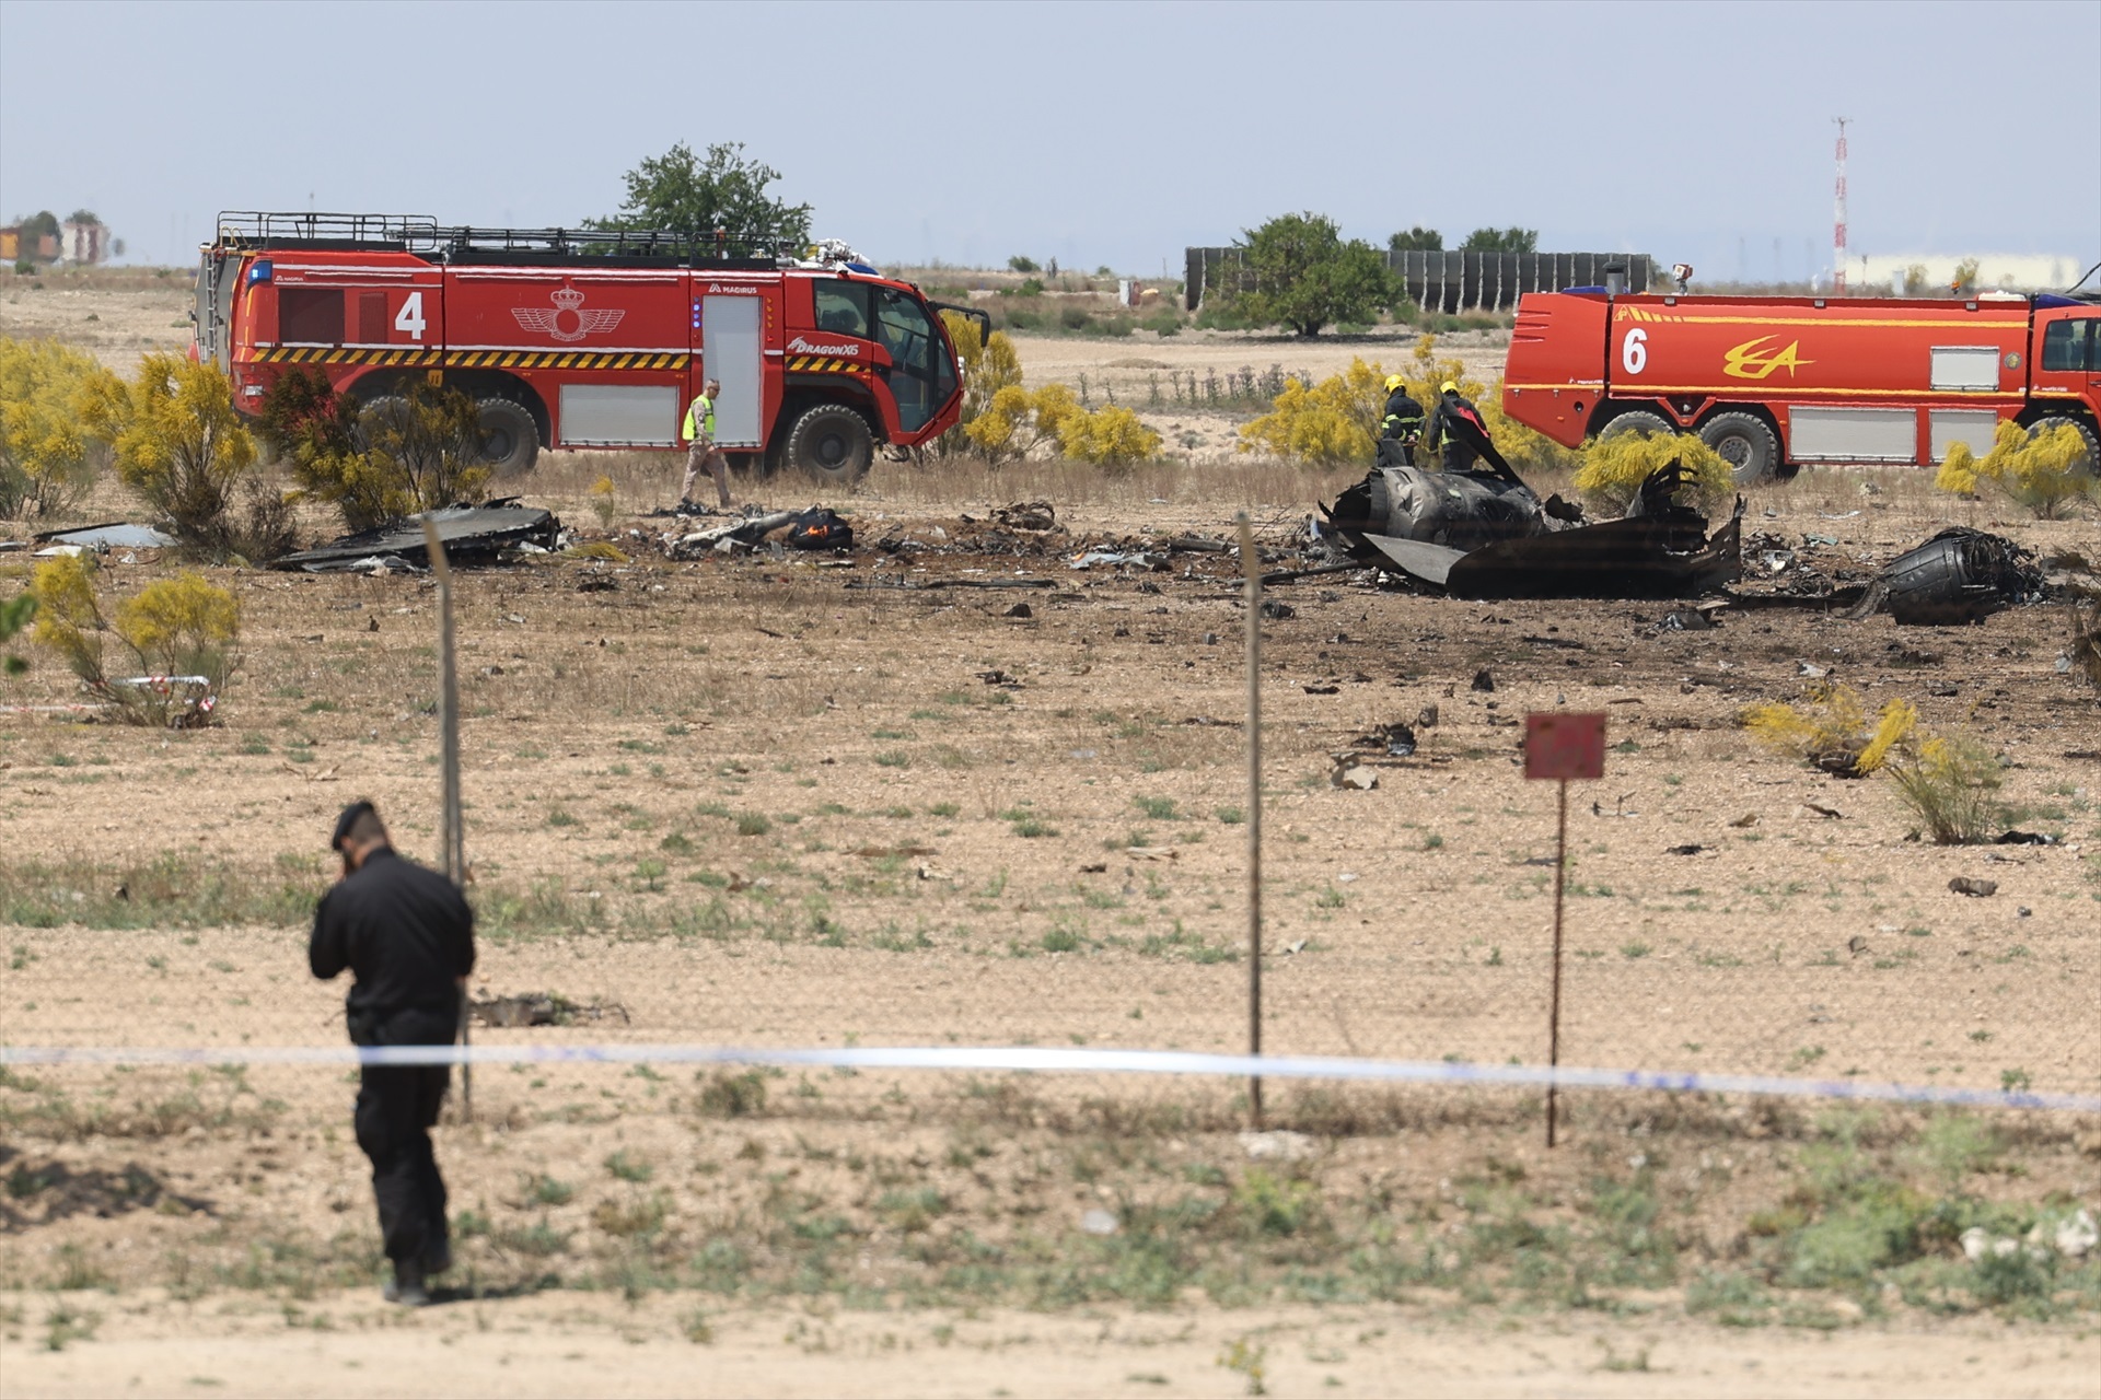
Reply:
[[[179, 4], [0, 0], [0, 216], [132, 262], [219, 210], [574, 225], [742, 141], [878, 262], [1179, 275], [1292, 210], [1649, 252], [2101, 260], [2101, 2]], [[1857, 264], [1857, 262], [1855, 262]]]

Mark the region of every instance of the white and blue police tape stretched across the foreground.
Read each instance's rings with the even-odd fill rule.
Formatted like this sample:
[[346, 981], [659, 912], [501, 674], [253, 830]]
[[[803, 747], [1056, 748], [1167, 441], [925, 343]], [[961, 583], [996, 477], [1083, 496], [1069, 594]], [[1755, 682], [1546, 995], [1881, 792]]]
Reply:
[[1107, 1075], [1261, 1075], [1374, 1083], [1559, 1085], [1565, 1089], [1664, 1089], [1851, 1098], [1973, 1108], [2101, 1112], [2095, 1094], [1958, 1089], [1851, 1079], [1691, 1075], [1668, 1070], [1548, 1068], [1450, 1060], [1351, 1060], [1343, 1056], [1212, 1056], [1183, 1049], [1053, 1049], [1036, 1045], [0, 1045], [6, 1064], [767, 1064], [779, 1068], [1027, 1070]]

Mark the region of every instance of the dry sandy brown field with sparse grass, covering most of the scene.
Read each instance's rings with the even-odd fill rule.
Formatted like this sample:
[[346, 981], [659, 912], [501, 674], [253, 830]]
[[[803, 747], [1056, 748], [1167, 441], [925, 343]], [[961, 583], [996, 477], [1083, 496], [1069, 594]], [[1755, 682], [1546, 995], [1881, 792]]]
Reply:
[[[21, 311], [27, 294], [11, 296], [0, 332], [44, 325]], [[160, 300], [137, 292], [130, 313], [97, 311], [65, 334], [122, 367], [168, 311]], [[1084, 353], [1153, 346], [1023, 346], [1032, 374], [1078, 374]], [[603, 525], [588, 504], [601, 472], [616, 483]], [[1216, 535], [1235, 510], [1286, 554], [1338, 479], [1029, 464], [987, 481], [885, 464], [838, 502], [861, 537], [847, 560], [704, 563], [653, 546], [664, 521], [649, 512], [674, 485], [656, 460], [555, 453], [527, 500], [628, 563], [460, 577], [475, 987], [618, 1007], [477, 1041], [1244, 1045], [1233, 563], [1072, 560]], [[1059, 533], [990, 521], [1038, 495]], [[122, 514], [137, 510], [105, 489], [82, 518]], [[1946, 521], [2101, 554], [2090, 514], [1954, 506], [1893, 472], [1807, 472], [1754, 497], [1746, 525], [1870, 569]], [[0, 577], [17, 579], [17, 560], [0, 556]], [[126, 596], [172, 569], [111, 556], [101, 586]], [[332, 814], [366, 796], [405, 850], [435, 846], [429, 581], [210, 573], [244, 609], [223, 724], [0, 716], [11, 1043], [338, 1043], [340, 987], [307, 976], [298, 924], [326, 877]], [[1029, 586], [983, 588], [1017, 581]], [[1544, 1060], [1555, 793], [1521, 779], [1515, 741], [1527, 709], [1595, 707], [1611, 754], [1607, 779], [1572, 793], [1565, 1064], [2101, 1091], [2101, 722], [2057, 672], [2059, 609], [1960, 630], [1788, 609], [1660, 632], [1668, 604], [1479, 604], [1347, 577], [1275, 598], [1290, 615], [1263, 640], [1265, 1049]], [[1494, 688], [1477, 688], [1483, 672]], [[2061, 842], [1922, 844], [1887, 781], [1759, 749], [1738, 714], [1801, 699], [1817, 672], [1981, 735], [2004, 756], [2011, 821]], [[6, 699], [69, 695], [42, 655]], [[1420, 722], [1429, 709], [1435, 724]], [[1332, 758], [1387, 722], [1418, 724], [1420, 751], [1374, 758], [1374, 791], [1330, 785]], [[1700, 850], [1670, 854], [1681, 846]], [[1998, 892], [1952, 894], [1956, 875]], [[1139, 1312], [1118, 1301], [1128, 1289], [1053, 1291], [1080, 1301], [1017, 1312], [1011, 1282], [987, 1282], [977, 1310], [952, 1291], [912, 1303], [914, 1280], [956, 1264], [922, 1257], [929, 1240], [969, 1261], [964, 1222], [1006, 1259], [1029, 1240], [1080, 1259], [1090, 1209], [1124, 1222], [1111, 1245], [1139, 1236], [1135, 1211], [1174, 1209], [1187, 1190], [1254, 1211], [1277, 1188], [1254, 1167], [1265, 1148], [1235, 1138], [1237, 1085], [754, 1083], [765, 1094], [746, 1102], [687, 1066], [483, 1068], [475, 1123], [441, 1129], [439, 1148], [454, 1209], [485, 1226], [462, 1236], [481, 1282], [401, 1318], [363, 1282], [376, 1243], [340, 1068], [8, 1079], [0, 1394], [456, 1394], [496, 1390], [490, 1366], [519, 1394], [1235, 1394], [1263, 1345], [1275, 1394], [1937, 1394], [1952, 1377], [1977, 1394], [2101, 1390], [2090, 1310], [2021, 1322], [1819, 1303], [1824, 1322], [1752, 1333], [1687, 1301], [1691, 1264], [1677, 1282], [1616, 1285], [1616, 1310], [1540, 1310], [1523, 1291], [1483, 1301], [1441, 1278], [1401, 1301], [1324, 1308], [1290, 1301], [1303, 1289], [1265, 1301], [1216, 1278], [1162, 1285]], [[1681, 1255], [1717, 1270], [1759, 1257], [1769, 1236], [1748, 1222], [1803, 1190], [1832, 1133], [1866, 1133], [1889, 1171], [1925, 1182], [1908, 1154], [1941, 1131], [1925, 1115], [1857, 1133], [1811, 1108], [1700, 1102], [1693, 1115], [1572, 1096], [1572, 1146], [1553, 1157], [1536, 1096], [1517, 1091], [1294, 1089], [1277, 1123], [1317, 1142], [1292, 1171], [1330, 1203], [1338, 1238], [1359, 1224], [1378, 1238], [1387, 1213], [1488, 1219], [1504, 1207], [1462, 1201], [1477, 1178], [1490, 1194], [1521, 1184], [1527, 1217], [1580, 1232], [1609, 1178], [1664, 1201]], [[1960, 1194], [2101, 1205], [2082, 1138], [2095, 1125], [2044, 1119], [1979, 1148]], [[571, 1194], [540, 1186], [557, 1178]], [[914, 1207], [918, 1190], [939, 1207]], [[761, 1276], [800, 1259], [826, 1211], [847, 1224], [813, 1295], [637, 1274], [750, 1238]], [[1960, 1266], [1960, 1249], [1941, 1253]], [[889, 1301], [840, 1306], [864, 1274]], [[372, 1356], [380, 1329], [389, 1345]], [[1221, 1364], [1240, 1341], [1242, 1369]]]

